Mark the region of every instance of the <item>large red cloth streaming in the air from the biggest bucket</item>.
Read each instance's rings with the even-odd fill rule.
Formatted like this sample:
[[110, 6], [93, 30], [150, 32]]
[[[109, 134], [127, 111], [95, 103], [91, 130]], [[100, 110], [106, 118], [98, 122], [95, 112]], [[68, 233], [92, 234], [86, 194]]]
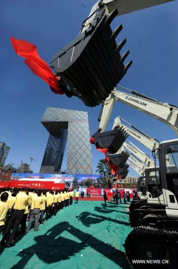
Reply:
[[24, 63], [32, 72], [42, 78], [53, 92], [63, 94], [64, 92], [60, 89], [58, 84], [59, 77], [56, 77], [48, 64], [40, 58], [37, 52], [37, 46], [13, 37], [11, 37], [10, 40], [15, 52], [25, 58]]

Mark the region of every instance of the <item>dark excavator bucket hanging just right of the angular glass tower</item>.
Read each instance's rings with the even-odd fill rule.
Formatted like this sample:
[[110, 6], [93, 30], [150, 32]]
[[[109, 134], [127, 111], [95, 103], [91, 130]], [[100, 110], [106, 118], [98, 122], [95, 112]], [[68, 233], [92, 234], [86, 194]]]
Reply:
[[122, 127], [115, 127], [112, 131], [96, 133], [93, 135], [95, 144], [100, 148], [108, 148], [110, 154], [117, 153], [128, 134]]

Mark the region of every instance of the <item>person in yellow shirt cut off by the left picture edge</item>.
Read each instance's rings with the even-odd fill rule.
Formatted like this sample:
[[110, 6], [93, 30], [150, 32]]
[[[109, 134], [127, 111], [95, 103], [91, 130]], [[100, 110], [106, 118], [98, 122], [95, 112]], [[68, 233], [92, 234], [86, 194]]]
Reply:
[[4, 192], [0, 196], [0, 233], [3, 230], [3, 226], [6, 220], [9, 204], [7, 202], [8, 193]]

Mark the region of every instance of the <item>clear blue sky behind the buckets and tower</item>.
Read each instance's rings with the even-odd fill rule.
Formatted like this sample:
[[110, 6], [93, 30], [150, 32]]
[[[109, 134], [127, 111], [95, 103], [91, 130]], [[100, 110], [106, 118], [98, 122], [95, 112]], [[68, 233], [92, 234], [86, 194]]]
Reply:
[[[48, 133], [40, 123], [47, 107], [87, 111], [90, 134], [96, 129], [100, 106], [86, 107], [78, 98], [52, 93], [15, 54], [9, 38], [26, 40], [38, 47], [49, 63], [53, 55], [74, 39], [81, 22], [96, 0], [0, 0], [0, 141], [11, 147], [6, 163], [30, 162], [40, 170]], [[117, 41], [127, 38], [133, 65], [120, 85], [178, 106], [178, 1], [117, 17], [113, 27], [123, 25]], [[159, 141], [176, 138], [167, 125], [116, 102], [107, 129], [121, 116]], [[141, 150], [151, 152], [138, 144]], [[94, 172], [103, 155], [92, 146]], [[65, 169], [66, 154], [62, 164]], [[138, 175], [130, 169], [129, 175]]]

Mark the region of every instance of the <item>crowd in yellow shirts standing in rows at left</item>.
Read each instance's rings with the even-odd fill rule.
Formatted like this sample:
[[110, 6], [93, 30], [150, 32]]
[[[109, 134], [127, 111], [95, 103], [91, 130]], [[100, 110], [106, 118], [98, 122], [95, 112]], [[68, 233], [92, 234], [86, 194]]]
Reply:
[[[7, 247], [16, 244], [19, 227], [21, 234], [30, 231], [34, 221], [34, 231], [39, 225], [48, 221], [52, 216], [65, 207], [72, 205], [74, 190], [39, 190], [28, 188], [0, 189], [0, 246]], [[78, 203], [79, 192], [75, 192]], [[44, 218], [45, 216], [45, 218]], [[26, 226], [26, 223], [28, 225]]]

